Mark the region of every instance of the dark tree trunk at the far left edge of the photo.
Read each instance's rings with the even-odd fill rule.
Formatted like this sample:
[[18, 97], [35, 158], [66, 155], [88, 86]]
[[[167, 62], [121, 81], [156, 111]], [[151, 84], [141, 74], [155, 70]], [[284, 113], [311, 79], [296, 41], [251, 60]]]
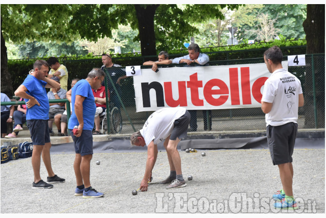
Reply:
[[[2, 29], [2, 20], [1, 20]], [[5, 38], [1, 31], [1, 92], [8, 95], [9, 98], [13, 95], [11, 75], [8, 72], [8, 57]]]

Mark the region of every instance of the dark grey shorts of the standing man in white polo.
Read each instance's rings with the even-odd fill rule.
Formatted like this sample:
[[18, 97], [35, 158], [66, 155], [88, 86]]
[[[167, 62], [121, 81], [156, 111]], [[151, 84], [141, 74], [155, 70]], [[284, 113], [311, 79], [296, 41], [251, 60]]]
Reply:
[[287, 123], [281, 126], [267, 126], [267, 143], [274, 165], [292, 163], [292, 154], [297, 137], [298, 124]]

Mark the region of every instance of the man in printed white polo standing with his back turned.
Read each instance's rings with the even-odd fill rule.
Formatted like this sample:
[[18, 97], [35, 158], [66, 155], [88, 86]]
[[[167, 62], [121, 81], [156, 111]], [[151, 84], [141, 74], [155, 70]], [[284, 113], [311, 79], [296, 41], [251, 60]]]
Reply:
[[273, 195], [278, 209], [297, 209], [293, 198], [292, 154], [298, 131], [298, 107], [304, 104], [301, 83], [282, 67], [283, 54], [273, 46], [264, 52], [267, 69], [272, 73], [264, 84], [261, 109], [266, 114], [266, 134], [274, 165], [278, 165], [283, 189]]

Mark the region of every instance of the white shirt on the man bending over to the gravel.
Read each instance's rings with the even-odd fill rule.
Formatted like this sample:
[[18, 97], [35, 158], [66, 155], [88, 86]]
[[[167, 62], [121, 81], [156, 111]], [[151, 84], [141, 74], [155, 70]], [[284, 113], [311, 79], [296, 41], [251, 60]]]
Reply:
[[186, 112], [185, 108], [162, 108], [152, 113], [145, 122], [140, 133], [144, 137], [148, 146], [154, 140], [154, 144], [158, 144], [167, 138], [173, 128], [174, 122]]

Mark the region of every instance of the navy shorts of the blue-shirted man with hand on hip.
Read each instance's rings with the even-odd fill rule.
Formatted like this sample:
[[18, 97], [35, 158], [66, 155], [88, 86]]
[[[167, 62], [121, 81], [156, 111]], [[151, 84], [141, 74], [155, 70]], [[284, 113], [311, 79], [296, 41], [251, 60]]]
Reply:
[[47, 120], [27, 120], [33, 145], [45, 145], [50, 142], [49, 125]]

